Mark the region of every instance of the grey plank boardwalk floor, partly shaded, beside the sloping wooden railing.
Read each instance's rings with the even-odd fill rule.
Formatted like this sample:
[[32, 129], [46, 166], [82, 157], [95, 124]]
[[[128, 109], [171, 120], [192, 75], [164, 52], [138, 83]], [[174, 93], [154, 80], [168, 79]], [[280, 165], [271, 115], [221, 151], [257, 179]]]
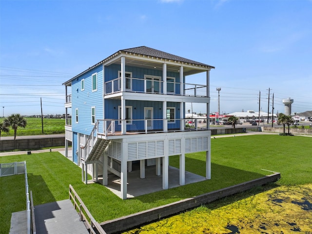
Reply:
[[89, 234], [69, 199], [35, 206], [35, 222], [37, 234]]

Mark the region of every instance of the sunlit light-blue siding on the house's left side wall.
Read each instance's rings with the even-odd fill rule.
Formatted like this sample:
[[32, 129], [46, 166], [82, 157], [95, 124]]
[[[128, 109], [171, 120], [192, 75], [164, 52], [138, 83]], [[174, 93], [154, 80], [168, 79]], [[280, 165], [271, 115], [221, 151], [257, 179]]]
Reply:
[[[72, 111], [78, 108], [78, 123], [72, 123], [73, 132], [89, 135], [92, 125], [91, 107], [96, 108], [96, 119], [103, 119], [103, 66], [92, 69], [72, 82]], [[97, 91], [92, 91], [92, 74], [97, 73]], [[84, 79], [84, 90], [81, 91], [81, 80]], [[72, 113], [75, 116], [76, 112]]]

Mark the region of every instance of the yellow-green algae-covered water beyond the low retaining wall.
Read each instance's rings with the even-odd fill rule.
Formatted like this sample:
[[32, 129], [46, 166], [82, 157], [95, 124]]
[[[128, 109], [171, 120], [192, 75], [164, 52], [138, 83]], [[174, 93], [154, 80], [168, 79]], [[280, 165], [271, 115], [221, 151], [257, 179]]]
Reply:
[[312, 184], [237, 194], [124, 234], [312, 234]]

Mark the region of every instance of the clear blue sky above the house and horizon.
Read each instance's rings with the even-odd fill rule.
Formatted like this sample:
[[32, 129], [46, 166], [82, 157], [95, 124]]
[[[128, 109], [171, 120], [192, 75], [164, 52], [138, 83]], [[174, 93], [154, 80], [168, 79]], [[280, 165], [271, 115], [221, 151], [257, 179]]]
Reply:
[[[312, 0], [1, 0], [0, 116], [63, 114], [62, 83], [120, 49], [215, 66], [211, 112], [312, 110]], [[203, 84], [205, 74], [195, 84]], [[4, 106], [4, 108], [3, 108]], [[191, 106], [186, 106], [186, 109]], [[193, 105], [193, 111], [205, 108]]]

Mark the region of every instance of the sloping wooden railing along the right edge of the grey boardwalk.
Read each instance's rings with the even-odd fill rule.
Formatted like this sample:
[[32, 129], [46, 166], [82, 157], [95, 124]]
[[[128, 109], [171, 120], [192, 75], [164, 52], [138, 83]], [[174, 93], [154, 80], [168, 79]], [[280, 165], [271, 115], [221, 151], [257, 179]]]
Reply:
[[85, 225], [90, 230], [90, 234], [106, 234], [99, 223], [93, 218], [88, 208], [84, 205], [77, 192], [72, 185], [69, 185], [69, 199], [73, 200], [75, 210], [79, 210], [80, 221], [84, 221]]

